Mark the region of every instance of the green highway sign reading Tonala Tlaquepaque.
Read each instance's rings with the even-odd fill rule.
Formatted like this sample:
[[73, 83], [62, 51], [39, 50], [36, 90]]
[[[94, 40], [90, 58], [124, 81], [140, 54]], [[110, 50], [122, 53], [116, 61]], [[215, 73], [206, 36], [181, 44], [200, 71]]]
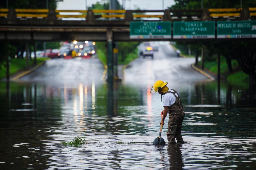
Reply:
[[214, 21], [173, 22], [173, 39], [215, 38]]

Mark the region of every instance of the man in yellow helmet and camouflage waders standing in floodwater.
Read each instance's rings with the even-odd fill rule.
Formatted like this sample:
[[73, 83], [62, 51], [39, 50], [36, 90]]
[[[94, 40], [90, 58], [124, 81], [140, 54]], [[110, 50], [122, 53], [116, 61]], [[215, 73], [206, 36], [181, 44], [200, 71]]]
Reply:
[[181, 125], [185, 116], [182, 102], [176, 90], [169, 89], [166, 86], [167, 83], [164, 83], [161, 80], [156, 81], [155, 84], [152, 86], [150, 93], [154, 94], [155, 92], [158, 92], [158, 94], [161, 94], [161, 102], [162, 95], [164, 96], [164, 110], [161, 112], [162, 120], [160, 122], [160, 125], [165, 124], [165, 117], [169, 112], [169, 122], [167, 131], [167, 139], [169, 143], [175, 143], [175, 138], [177, 142], [184, 143], [183, 138], [181, 136]]

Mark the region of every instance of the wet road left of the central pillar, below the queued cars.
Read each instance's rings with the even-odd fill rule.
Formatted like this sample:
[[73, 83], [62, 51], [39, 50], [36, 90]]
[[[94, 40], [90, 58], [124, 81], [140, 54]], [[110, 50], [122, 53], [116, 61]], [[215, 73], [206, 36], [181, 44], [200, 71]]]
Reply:
[[21, 78], [23, 81], [48, 83], [102, 82], [104, 67], [98, 58], [52, 59]]

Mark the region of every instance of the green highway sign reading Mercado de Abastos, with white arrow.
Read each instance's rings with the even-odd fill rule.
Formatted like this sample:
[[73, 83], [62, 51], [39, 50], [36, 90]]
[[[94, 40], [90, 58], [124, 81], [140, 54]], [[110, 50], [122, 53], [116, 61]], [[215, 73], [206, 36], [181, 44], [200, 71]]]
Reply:
[[218, 21], [217, 38], [256, 38], [256, 21]]

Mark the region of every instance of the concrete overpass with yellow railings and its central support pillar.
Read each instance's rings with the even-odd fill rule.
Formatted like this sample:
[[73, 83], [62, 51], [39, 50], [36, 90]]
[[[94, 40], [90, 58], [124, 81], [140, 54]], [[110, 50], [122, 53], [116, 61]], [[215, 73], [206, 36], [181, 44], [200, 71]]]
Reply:
[[[71, 15], [74, 12], [76, 12], [76, 14]], [[0, 9], [0, 40], [26, 42], [62, 40], [106, 41], [108, 83], [113, 84], [113, 42], [115, 41], [195, 41], [195, 39], [199, 41], [212, 41], [218, 39], [218, 22], [251, 22], [254, 20], [256, 20], [256, 8], [198, 10], [166, 9], [164, 11]], [[204, 36], [199, 36], [199, 38], [197, 37], [195, 39], [191, 39], [191, 37], [174, 38], [175, 29], [173, 29], [173, 27], [176, 21], [212, 21], [213, 34], [207, 39], [204, 39]], [[131, 22], [168, 22], [170, 25], [169, 38], [152, 38], [149, 36], [147, 39], [144, 39], [142, 36], [138, 36], [133, 39], [130, 37]], [[246, 23], [244, 25], [246, 25]], [[162, 29], [161, 27], [162, 26], [160, 25], [159, 29]], [[224, 25], [224, 27], [226, 26]], [[253, 29], [256, 30], [256, 28], [252, 27], [252, 30]], [[227, 38], [254, 38], [254, 36]]]

